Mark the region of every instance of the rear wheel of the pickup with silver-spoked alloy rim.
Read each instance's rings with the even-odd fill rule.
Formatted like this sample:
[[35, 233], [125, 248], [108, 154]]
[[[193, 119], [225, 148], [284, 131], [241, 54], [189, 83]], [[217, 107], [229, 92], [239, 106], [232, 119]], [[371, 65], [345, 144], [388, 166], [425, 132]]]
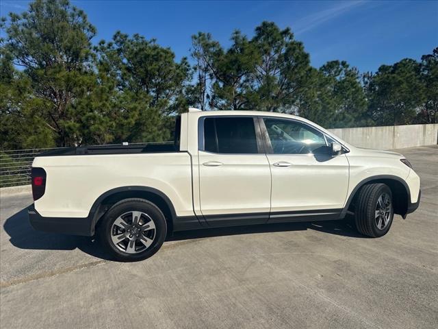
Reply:
[[120, 261], [151, 257], [166, 239], [166, 219], [155, 204], [125, 199], [114, 204], [102, 219], [98, 234], [102, 245]]

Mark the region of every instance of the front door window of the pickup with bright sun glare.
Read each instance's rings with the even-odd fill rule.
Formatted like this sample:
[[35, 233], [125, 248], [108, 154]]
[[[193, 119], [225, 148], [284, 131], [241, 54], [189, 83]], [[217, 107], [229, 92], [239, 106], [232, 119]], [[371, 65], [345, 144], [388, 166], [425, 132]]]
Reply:
[[326, 147], [322, 132], [298, 121], [263, 119], [274, 154], [319, 154]]

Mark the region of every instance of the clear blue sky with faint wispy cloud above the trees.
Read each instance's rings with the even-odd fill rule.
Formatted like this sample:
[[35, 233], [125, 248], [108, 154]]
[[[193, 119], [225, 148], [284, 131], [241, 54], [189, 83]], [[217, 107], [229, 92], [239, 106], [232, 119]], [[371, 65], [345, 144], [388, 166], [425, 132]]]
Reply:
[[[234, 29], [248, 36], [261, 21], [291, 27], [313, 66], [346, 60], [360, 71], [420, 57], [438, 46], [438, 1], [103, 1], [78, 0], [97, 28], [94, 42], [116, 30], [157, 38], [177, 58], [188, 56], [190, 36], [210, 32], [222, 45]], [[28, 1], [1, 0], [1, 16]]]

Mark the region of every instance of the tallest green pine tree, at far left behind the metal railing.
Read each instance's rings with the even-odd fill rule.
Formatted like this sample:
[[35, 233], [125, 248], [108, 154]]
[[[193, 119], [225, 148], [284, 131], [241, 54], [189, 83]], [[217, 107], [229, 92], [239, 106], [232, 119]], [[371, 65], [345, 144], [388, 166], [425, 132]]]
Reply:
[[80, 144], [73, 104], [94, 81], [90, 40], [96, 31], [86, 14], [68, 1], [36, 0], [27, 12], [10, 14], [5, 31], [4, 51], [23, 69], [31, 98], [35, 98], [32, 106], [19, 111], [44, 122], [50, 132], [43, 130], [42, 134], [57, 145]]

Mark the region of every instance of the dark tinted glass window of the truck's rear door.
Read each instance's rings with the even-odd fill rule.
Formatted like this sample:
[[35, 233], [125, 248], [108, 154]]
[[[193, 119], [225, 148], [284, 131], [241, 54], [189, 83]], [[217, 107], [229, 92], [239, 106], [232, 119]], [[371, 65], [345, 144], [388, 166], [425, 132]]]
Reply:
[[204, 120], [205, 151], [224, 154], [257, 154], [252, 117], [207, 117]]

